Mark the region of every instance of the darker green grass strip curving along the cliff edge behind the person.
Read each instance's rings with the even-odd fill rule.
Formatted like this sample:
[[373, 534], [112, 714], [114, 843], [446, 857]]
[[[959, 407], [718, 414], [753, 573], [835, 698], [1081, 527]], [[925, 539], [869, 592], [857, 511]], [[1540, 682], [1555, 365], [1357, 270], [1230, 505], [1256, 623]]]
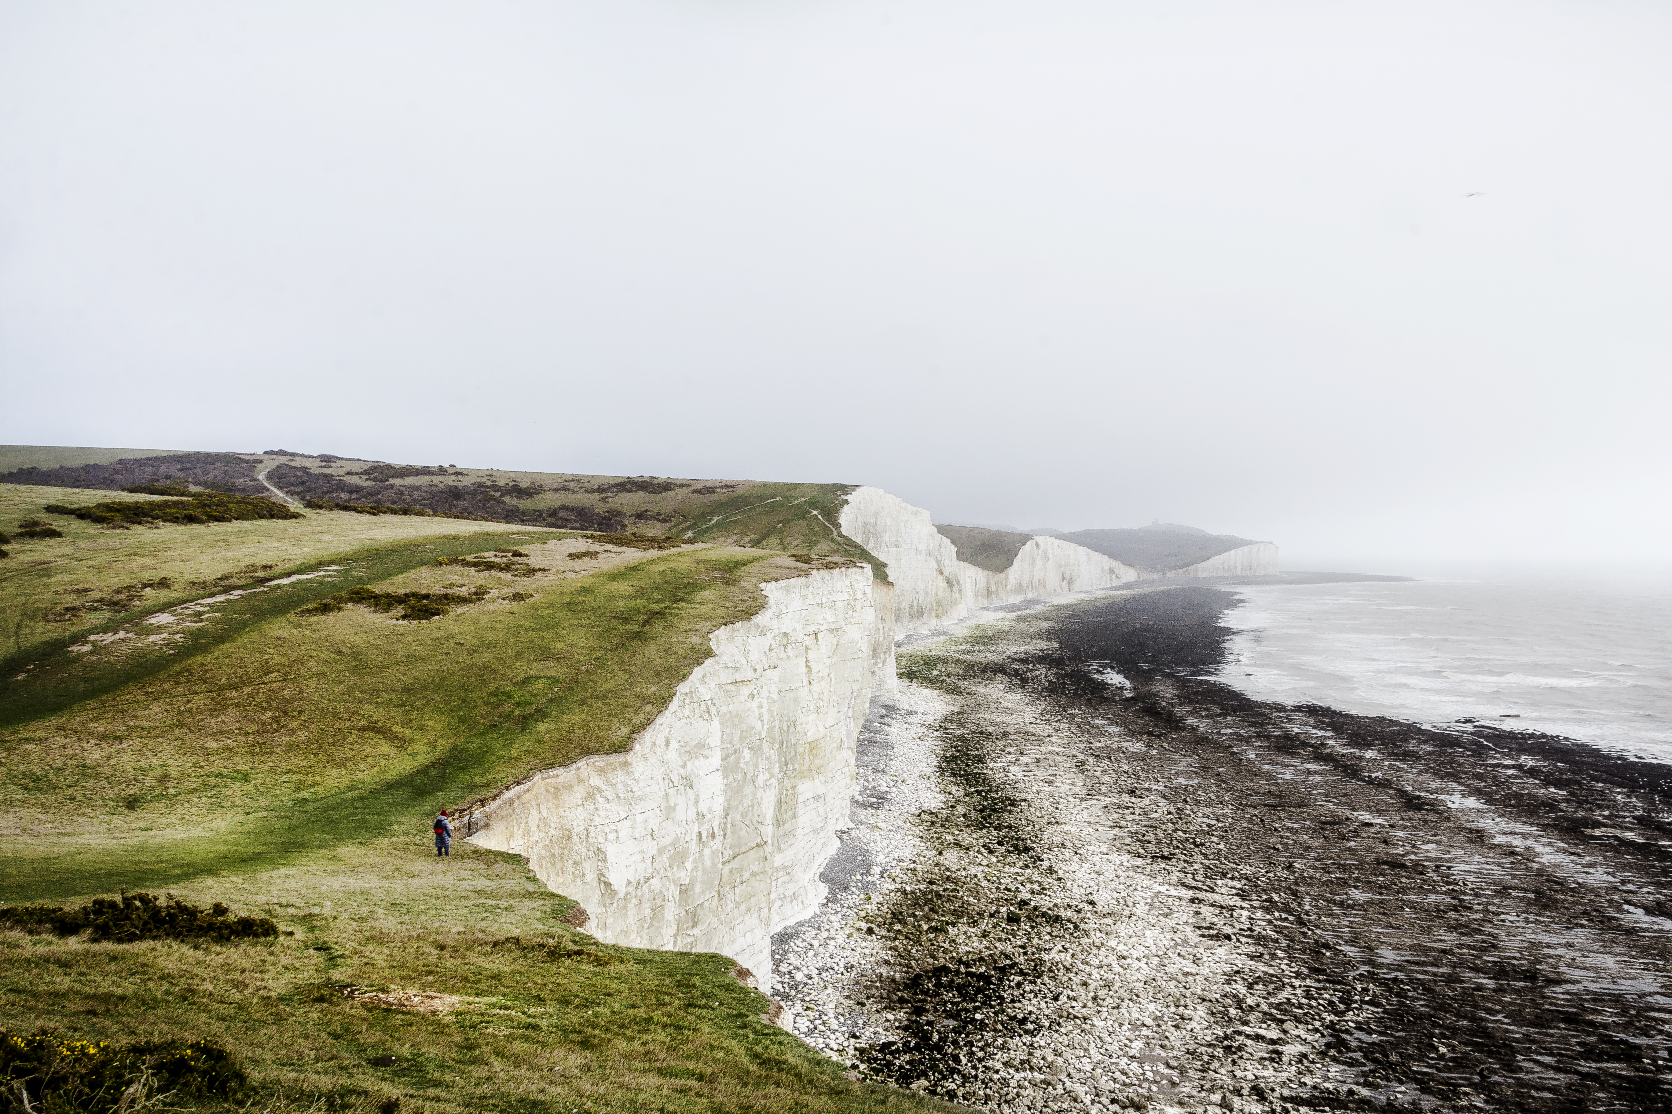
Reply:
[[[149, 835], [110, 840], [94, 852], [79, 847], [62, 855], [13, 857], [0, 897], [35, 902], [159, 889], [286, 867], [406, 827], [421, 835], [440, 807], [456, 807], [538, 768], [622, 750], [679, 681], [712, 655], [706, 635], [766, 605], [759, 591], [737, 590], [749, 566], [771, 556], [716, 549], [670, 554], [518, 605], [523, 613], [505, 618], [518, 630], [493, 635], [507, 648], [530, 636], [548, 648], [560, 645], [568, 665], [557, 668], [567, 676], [528, 675], [480, 691], [475, 675], [448, 676], [451, 666], [435, 663], [436, 678], [425, 693], [440, 706], [440, 732], [455, 730], [456, 742], [436, 740], [405, 768], [288, 800], [212, 835]], [[712, 580], [716, 575], [721, 578]]]

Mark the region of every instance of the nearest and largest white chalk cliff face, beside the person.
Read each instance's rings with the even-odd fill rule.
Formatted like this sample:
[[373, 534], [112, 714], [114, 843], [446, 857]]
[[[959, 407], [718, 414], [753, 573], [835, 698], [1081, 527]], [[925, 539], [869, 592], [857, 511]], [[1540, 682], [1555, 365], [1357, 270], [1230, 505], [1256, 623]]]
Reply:
[[818, 907], [848, 825], [854, 743], [874, 646], [868, 568], [761, 588], [769, 605], [711, 635], [632, 750], [545, 770], [466, 817], [475, 843], [515, 852], [577, 899], [600, 940], [722, 952], [771, 989], [771, 937]]

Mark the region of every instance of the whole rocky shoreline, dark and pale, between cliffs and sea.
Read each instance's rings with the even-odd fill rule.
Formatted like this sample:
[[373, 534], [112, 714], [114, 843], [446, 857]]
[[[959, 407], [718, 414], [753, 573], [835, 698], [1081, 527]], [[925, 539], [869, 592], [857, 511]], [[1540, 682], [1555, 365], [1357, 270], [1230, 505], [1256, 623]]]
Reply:
[[991, 1111], [1672, 1104], [1672, 770], [1249, 700], [1236, 598], [901, 653], [786, 1024]]

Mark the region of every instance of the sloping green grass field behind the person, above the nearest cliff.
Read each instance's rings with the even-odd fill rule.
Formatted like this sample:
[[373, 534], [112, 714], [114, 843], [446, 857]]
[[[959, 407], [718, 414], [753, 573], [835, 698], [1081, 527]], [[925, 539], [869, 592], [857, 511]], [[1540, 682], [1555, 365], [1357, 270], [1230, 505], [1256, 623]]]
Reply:
[[[535, 563], [567, 563], [557, 548], [532, 548]], [[627, 561], [535, 580], [430, 565], [380, 583], [537, 595], [428, 623], [256, 616], [149, 678], [17, 722], [0, 792], [35, 820], [3, 867], [8, 900], [274, 865], [619, 750], [712, 653], [709, 631], [764, 606], [762, 578], [803, 571], [746, 549]], [[85, 658], [72, 665], [92, 686], [100, 661]]]

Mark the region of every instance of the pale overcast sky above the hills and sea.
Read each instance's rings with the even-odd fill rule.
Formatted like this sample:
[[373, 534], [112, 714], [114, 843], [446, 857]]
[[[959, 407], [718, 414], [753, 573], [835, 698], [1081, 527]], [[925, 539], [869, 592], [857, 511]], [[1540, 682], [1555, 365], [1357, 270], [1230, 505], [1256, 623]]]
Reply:
[[0, 439], [1664, 558], [1669, 60], [1607, 0], [0, 0]]

